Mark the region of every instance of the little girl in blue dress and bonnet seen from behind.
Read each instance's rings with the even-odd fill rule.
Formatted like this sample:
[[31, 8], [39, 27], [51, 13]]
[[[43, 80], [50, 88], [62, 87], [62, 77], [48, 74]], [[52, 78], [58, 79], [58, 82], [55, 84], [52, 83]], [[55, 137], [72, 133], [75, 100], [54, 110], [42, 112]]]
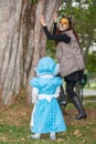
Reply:
[[56, 132], [65, 132], [66, 125], [57, 103], [62, 79], [55, 76], [58, 73], [58, 64], [50, 56], [39, 61], [35, 69], [36, 78], [31, 79], [32, 102], [34, 109], [31, 116], [32, 138], [40, 138], [41, 134], [50, 133], [50, 138], [56, 138]]

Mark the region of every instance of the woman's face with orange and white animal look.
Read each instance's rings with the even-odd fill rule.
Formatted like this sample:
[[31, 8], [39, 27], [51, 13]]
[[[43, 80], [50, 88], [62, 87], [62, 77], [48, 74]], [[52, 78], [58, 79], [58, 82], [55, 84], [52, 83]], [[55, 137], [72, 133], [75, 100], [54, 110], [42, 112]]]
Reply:
[[62, 18], [62, 19], [60, 20], [60, 23], [58, 23], [58, 29], [60, 29], [61, 31], [64, 31], [64, 30], [66, 30], [67, 28], [70, 28], [68, 19], [67, 19], [67, 18]]

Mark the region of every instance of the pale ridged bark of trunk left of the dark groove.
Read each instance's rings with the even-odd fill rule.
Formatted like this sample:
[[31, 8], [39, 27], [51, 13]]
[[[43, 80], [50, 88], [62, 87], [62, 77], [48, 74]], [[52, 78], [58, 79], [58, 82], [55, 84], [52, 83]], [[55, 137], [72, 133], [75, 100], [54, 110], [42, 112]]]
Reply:
[[21, 17], [25, 3], [23, 0], [1, 0], [0, 3], [0, 91], [4, 104], [10, 104], [12, 94], [20, 90], [23, 71]]

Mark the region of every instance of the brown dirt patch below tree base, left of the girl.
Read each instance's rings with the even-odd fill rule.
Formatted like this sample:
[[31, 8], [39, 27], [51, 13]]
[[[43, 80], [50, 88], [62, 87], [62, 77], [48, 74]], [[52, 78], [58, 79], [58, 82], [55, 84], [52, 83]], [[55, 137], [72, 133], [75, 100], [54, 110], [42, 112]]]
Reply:
[[0, 103], [0, 123], [22, 125], [30, 122], [32, 106], [17, 104], [4, 106]]

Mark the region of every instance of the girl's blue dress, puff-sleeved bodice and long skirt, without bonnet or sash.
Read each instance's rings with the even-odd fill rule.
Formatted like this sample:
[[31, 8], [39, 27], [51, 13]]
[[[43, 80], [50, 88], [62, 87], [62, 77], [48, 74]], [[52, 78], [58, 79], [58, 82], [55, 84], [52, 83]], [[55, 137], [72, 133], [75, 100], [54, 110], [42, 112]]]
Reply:
[[[56, 89], [61, 85], [62, 79], [53, 78], [33, 78], [30, 81], [31, 86], [39, 89], [39, 95], [51, 96], [55, 94]], [[52, 133], [64, 132], [66, 125], [57, 103], [57, 99], [52, 96], [51, 101], [46, 99], [39, 99], [32, 113], [33, 133]]]

